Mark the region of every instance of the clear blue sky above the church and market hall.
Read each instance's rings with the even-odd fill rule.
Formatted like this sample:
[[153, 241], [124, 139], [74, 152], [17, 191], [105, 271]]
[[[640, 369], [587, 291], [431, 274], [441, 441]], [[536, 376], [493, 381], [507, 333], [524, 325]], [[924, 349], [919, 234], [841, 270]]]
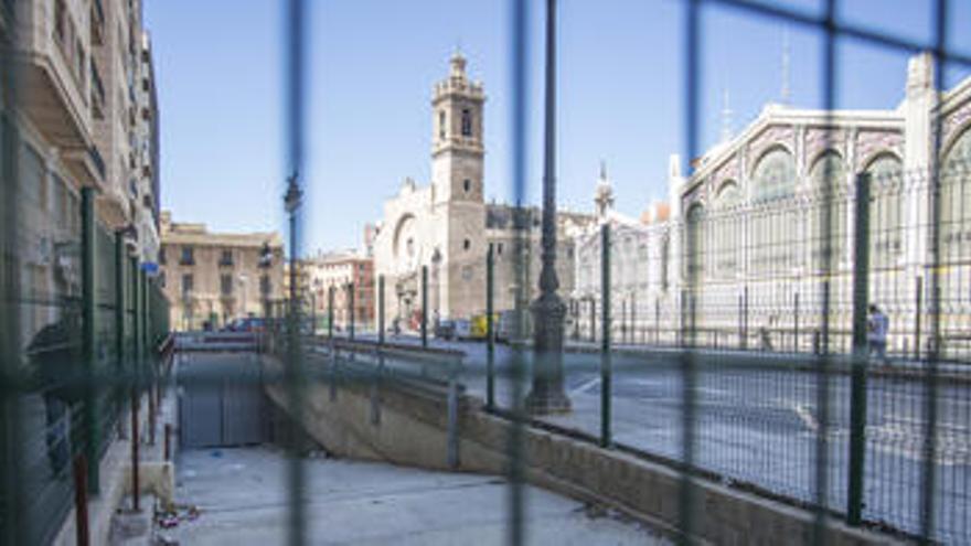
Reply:
[[[356, 246], [405, 176], [429, 179], [431, 85], [458, 46], [482, 79], [486, 193], [510, 189], [508, 0], [309, 0], [305, 250]], [[533, 2], [542, 74], [544, 2]], [[822, 0], [780, 0], [809, 13]], [[930, 0], [843, 0], [843, 21], [930, 43]], [[953, 1], [950, 45], [971, 55], [971, 2]], [[147, 0], [162, 127], [162, 206], [214, 229], [280, 229], [284, 172], [282, 0]], [[617, 206], [639, 214], [666, 195], [684, 147], [682, 0], [561, 0], [558, 195], [589, 210], [600, 159]], [[781, 88], [785, 28], [735, 9], [703, 14], [702, 144], [717, 141], [723, 92], [740, 130]], [[789, 26], [791, 103], [821, 105], [822, 36]], [[840, 42], [839, 106], [892, 108], [908, 55]], [[969, 71], [948, 73], [949, 84]], [[532, 84], [527, 195], [540, 195], [540, 79]]]

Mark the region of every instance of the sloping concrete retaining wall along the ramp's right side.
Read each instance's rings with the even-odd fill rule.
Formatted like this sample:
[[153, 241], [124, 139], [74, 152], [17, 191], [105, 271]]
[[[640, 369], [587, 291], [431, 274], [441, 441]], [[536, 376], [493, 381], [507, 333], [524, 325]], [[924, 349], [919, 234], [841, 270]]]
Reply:
[[[279, 364], [267, 360], [268, 368]], [[271, 400], [287, 408], [282, 386], [268, 386]], [[383, 384], [322, 383], [305, 392], [307, 431], [328, 451], [354, 459], [450, 469], [444, 392]], [[502, 475], [511, 427], [487, 414], [481, 403], [460, 398], [459, 463], [455, 470]], [[651, 526], [673, 532], [680, 525], [681, 475], [636, 457], [537, 428], [524, 429], [525, 473], [530, 482], [588, 502], [611, 505]], [[697, 481], [695, 533], [713, 544], [809, 543], [813, 515], [807, 511]], [[831, 522], [825, 544], [887, 544], [886, 535]]]

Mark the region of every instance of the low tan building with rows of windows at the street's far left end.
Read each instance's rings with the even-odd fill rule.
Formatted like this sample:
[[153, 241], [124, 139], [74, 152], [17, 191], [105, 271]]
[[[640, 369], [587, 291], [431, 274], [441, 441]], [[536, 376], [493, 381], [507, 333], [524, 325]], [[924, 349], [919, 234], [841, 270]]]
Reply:
[[267, 315], [284, 297], [284, 245], [273, 233], [210, 233], [162, 213], [160, 278], [173, 330]]

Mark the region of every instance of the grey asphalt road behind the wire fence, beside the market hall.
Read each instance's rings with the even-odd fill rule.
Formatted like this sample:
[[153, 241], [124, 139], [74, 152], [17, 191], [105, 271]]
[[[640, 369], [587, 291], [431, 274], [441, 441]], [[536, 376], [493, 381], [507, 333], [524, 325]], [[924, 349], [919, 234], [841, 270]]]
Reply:
[[[399, 338], [398, 342], [416, 342]], [[463, 351], [461, 382], [470, 394], [486, 397], [487, 351], [482, 343], [437, 342]], [[815, 373], [796, 370], [799, 357], [754, 353], [700, 352], [692, 393], [695, 397], [694, 463], [726, 482], [754, 484], [775, 494], [814, 501], [817, 468], [826, 472], [825, 502], [846, 506], [850, 450], [850, 379], [833, 374], [824, 409]], [[805, 364], [811, 364], [802, 357]], [[497, 404], [512, 406], [512, 352], [495, 352]], [[564, 386], [573, 410], [544, 417], [549, 422], [600, 433], [600, 356], [564, 355]], [[914, 363], [896, 363], [913, 367]], [[611, 428], [615, 442], [681, 460], [684, 377], [682, 361], [671, 352], [611, 356]], [[529, 377], [529, 374], [525, 374]], [[529, 379], [521, 394], [529, 392]], [[949, 382], [938, 389], [936, 433], [935, 527], [945, 543], [971, 542], [971, 382]], [[864, 518], [917, 533], [927, 430], [926, 389], [906, 376], [867, 381]], [[818, 464], [820, 442], [826, 460]]]

